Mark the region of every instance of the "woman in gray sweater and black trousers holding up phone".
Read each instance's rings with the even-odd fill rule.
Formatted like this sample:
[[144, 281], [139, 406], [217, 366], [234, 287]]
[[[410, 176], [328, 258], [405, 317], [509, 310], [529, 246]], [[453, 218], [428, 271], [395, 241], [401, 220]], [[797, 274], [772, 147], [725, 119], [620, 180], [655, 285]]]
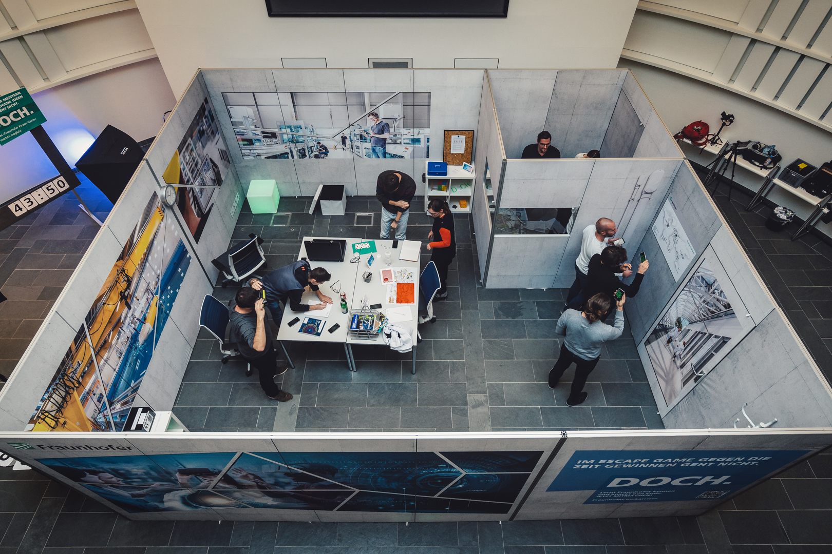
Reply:
[[624, 331], [624, 301], [625, 295], [622, 295], [622, 299], [616, 304], [616, 321], [612, 326], [601, 321], [612, 306], [610, 297], [603, 292], [590, 298], [583, 311], [564, 311], [557, 320], [555, 333], [565, 335], [566, 340], [563, 341], [561, 355], [557, 358], [555, 366], [549, 371], [549, 388], [555, 388], [563, 372], [574, 362], [575, 378], [572, 380], [567, 405], [577, 406], [587, 400], [583, 385], [587, 384], [587, 377], [601, 357], [602, 344], [617, 339]]

